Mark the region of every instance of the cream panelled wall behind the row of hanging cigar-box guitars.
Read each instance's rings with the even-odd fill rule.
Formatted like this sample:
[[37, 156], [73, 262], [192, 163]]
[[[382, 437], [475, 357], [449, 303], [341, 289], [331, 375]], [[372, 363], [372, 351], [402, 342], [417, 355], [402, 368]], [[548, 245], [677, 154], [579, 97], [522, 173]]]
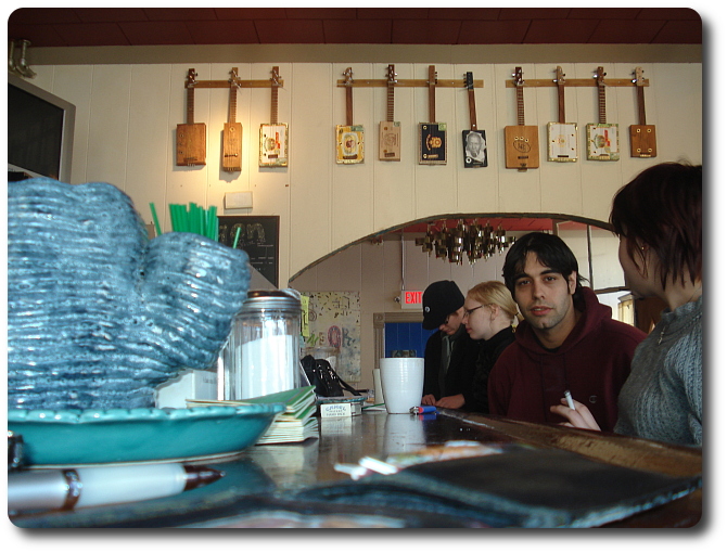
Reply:
[[[574, 48], [577, 48], [574, 46]], [[176, 126], [184, 121], [184, 78], [190, 67], [199, 80], [226, 80], [231, 67], [241, 79], [268, 79], [280, 66], [279, 120], [290, 125], [290, 167], [257, 166], [258, 129], [268, 123], [269, 89], [241, 89], [237, 120], [243, 126], [243, 170], [220, 169], [222, 124], [228, 91], [197, 89], [195, 120], [207, 125], [207, 165], [175, 166]], [[630, 78], [640, 65], [646, 88], [647, 123], [656, 126], [659, 157], [628, 155], [628, 126], [638, 123], [633, 88], [607, 91], [609, 121], [621, 127], [622, 159], [588, 162], [585, 127], [598, 120], [596, 88], [566, 88], [565, 117], [578, 124], [581, 159], [548, 163], [546, 126], [557, 120], [556, 88], [525, 88], [525, 123], [540, 127], [540, 168], [524, 173], [505, 169], [502, 129], [516, 124], [515, 97], [505, 83], [514, 65], [438, 64], [439, 79], [460, 79], [472, 72], [484, 88], [475, 89], [477, 124], [488, 139], [489, 167], [464, 169], [458, 139], [469, 127], [463, 88], [436, 90], [436, 118], [447, 123], [448, 164], [417, 164], [416, 129], [429, 118], [426, 88], [397, 89], [395, 119], [401, 123], [401, 162], [378, 160], [378, 125], [385, 118], [384, 88], [354, 89], [354, 123], [367, 132], [366, 162], [336, 165], [334, 128], [345, 124], [345, 94], [335, 86], [348, 64], [341, 63], [178, 63], [109, 65], [34, 65], [33, 80], [77, 107], [73, 157], [75, 183], [106, 181], [135, 201], [151, 221], [149, 203], [162, 211], [163, 230], [170, 230], [169, 203], [218, 206], [225, 215], [280, 215], [280, 282], [352, 241], [403, 222], [456, 213], [558, 213], [607, 220], [614, 192], [654, 163], [702, 158], [702, 67], [698, 63], [560, 64], [567, 79], [591, 78], [603, 65], [607, 79]], [[522, 65], [525, 80], [554, 77], [557, 63]], [[354, 79], [383, 79], [386, 64], [352, 65]], [[400, 79], [425, 79], [428, 65], [397, 64]], [[226, 192], [252, 191], [252, 210], [225, 211]]]

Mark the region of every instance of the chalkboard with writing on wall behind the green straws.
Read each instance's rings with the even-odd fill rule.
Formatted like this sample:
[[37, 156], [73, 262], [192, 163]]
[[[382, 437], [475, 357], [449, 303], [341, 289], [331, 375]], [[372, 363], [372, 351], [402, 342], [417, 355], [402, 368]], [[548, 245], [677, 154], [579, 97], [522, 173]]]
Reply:
[[250, 265], [278, 287], [280, 216], [220, 216], [218, 241], [232, 247], [238, 229], [240, 229], [238, 248], [244, 249], [250, 256]]

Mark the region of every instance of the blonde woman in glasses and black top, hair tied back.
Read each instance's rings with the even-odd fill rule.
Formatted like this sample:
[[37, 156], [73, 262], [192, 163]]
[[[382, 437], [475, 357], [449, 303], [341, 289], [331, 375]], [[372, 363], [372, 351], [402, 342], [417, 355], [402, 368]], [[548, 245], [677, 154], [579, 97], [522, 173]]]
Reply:
[[518, 305], [501, 282], [481, 282], [467, 293], [462, 323], [472, 339], [481, 340], [471, 373], [472, 386], [462, 394], [442, 398], [437, 407], [489, 412], [487, 377], [500, 353], [514, 342], [512, 325], [518, 317]]

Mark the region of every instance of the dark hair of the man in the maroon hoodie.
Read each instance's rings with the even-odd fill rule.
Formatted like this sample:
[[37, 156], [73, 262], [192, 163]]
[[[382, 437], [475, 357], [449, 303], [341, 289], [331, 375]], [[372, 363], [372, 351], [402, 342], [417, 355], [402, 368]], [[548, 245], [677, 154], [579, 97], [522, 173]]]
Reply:
[[565, 242], [554, 234], [546, 234], [545, 232], [524, 234], [508, 249], [502, 266], [502, 278], [510, 294], [514, 297], [515, 278], [525, 270], [527, 254], [531, 252], [535, 254], [540, 263], [562, 274], [565, 280], [575, 271], [573, 300], [576, 306], [579, 306], [583, 297], [582, 281], [585, 281], [585, 279], [578, 273], [578, 261]]

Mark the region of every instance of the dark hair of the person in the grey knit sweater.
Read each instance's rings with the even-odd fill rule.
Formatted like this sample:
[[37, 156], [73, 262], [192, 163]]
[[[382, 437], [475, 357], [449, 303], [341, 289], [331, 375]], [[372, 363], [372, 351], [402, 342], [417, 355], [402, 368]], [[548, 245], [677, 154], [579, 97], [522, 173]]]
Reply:
[[662, 286], [671, 278], [702, 280], [702, 166], [663, 163], [643, 170], [613, 198], [611, 224], [626, 240], [632, 261], [646, 262], [645, 246], [659, 258]]

